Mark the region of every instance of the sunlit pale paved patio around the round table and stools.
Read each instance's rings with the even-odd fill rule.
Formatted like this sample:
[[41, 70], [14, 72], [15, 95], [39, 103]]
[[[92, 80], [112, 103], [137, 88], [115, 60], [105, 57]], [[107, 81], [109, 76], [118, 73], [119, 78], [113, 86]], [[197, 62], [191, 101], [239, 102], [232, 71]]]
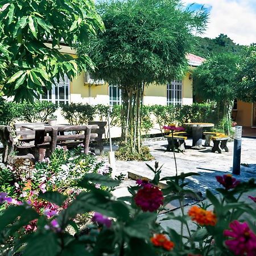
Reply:
[[[145, 141], [145, 145], [150, 148], [151, 154], [159, 165], [163, 164], [161, 177], [175, 175], [175, 162], [173, 152], [166, 152], [167, 140], [161, 141]], [[187, 146], [192, 146], [192, 140], [186, 142]], [[232, 173], [233, 166], [233, 142], [228, 143], [229, 152], [222, 154], [210, 152], [211, 147], [205, 150], [187, 149], [184, 154], [176, 153], [177, 172], [196, 172], [200, 176], [189, 177], [189, 187], [200, 191], [203, 195], [205, 189], [214, 190], [219, 187], [216, 182], [216, 175], [224, 175]], [[249, 166], [241, 166], [241, 175], [234, 175], [237, 179], [247, 181], [252, 177], [256, 177], [256, 139], [242, 138], [242, 154], [241, 163]], [[117, 160], [117, 174], [135, 174], [138, 176], [152, 178], [153, 173], [148, 169], [146, 163], [154, 166], [155, 161], [148, 162], [125, 162]], [[130, 182], [130, 181], [129, 181]], [[121, 192], [121, 191], [119, 191]], [[122, 194], [125, 194], [125, 184], [122, 185]]]

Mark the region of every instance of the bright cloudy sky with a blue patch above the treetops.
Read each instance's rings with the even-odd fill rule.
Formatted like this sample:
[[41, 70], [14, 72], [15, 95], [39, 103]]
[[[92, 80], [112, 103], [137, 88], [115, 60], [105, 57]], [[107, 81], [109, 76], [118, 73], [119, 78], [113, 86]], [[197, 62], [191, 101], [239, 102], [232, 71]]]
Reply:
[[237, 44], [256, 43], [256, 0], [183, 0], [192, 10], [202, 5], [209, 12], [207, 30], [203, 35], [216, 38], [228, 35]]

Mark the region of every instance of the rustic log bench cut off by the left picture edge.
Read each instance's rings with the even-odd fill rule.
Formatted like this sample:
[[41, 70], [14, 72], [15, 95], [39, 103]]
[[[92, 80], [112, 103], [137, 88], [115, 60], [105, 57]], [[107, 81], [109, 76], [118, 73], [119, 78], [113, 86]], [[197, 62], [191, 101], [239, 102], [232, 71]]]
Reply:
[[[18, 158], [34, 159], [34, 155], [30, 154], [30, 150], [34, 145], [18, 145], [15, 144], [13, 135], [11, 134], [11, 127], [7, 125], [0, 125], [0, 141], [3, 144], [2, 162], [10, 163]], [[12, 156], [13, 154], [17, 154]]]

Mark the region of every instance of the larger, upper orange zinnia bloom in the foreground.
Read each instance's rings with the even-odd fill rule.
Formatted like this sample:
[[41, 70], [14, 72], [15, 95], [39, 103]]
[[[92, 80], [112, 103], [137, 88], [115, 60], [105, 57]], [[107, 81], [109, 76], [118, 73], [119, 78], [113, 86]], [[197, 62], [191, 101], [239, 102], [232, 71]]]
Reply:
[[205, 210], [197, 207], [196, 205], [189, 209], [188, 215], [192, 218], [193, 221], [196, 221], [202, 226], [214, 226], [217, 222], [216, 215], [211, 210]]

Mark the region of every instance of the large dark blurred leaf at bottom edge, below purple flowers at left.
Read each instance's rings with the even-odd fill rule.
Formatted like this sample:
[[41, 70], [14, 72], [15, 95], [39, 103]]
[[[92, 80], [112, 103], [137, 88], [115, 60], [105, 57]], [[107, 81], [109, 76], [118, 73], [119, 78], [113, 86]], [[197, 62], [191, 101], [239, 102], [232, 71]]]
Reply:
[[56, 256], [60, 252], [60, 241], [53, 232], [35, 233], [28, 241], [23, 256]]

